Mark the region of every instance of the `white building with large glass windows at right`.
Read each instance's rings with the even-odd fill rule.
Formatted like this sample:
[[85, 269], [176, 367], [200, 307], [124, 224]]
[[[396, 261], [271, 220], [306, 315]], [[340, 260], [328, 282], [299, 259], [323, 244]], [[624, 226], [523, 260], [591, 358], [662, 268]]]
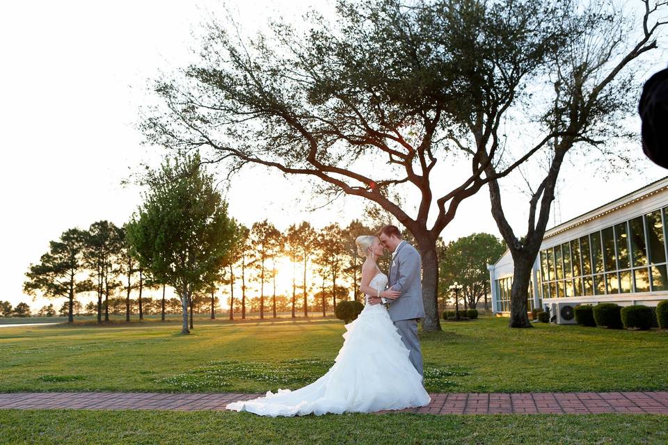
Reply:
[[[534, 263], [527, 307], [668, 299], [667, 225], [668, 177], [552, 227]], [[493, 312], [508, 314], [510, 253], [488, 269]]]

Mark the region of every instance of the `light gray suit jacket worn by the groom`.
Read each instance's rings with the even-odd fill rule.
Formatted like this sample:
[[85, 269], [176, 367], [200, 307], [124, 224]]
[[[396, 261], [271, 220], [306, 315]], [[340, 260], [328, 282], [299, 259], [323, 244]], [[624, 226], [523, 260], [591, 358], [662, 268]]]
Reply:
[[395, 258], [390, 263], [388, 277], [390, 289], [401, 292], [401, 296], [396, 300], [388, 300], [390, 303], [388, 311], [392, 321], [424, 318], [421, 270], [420, 254], [412, 245], [401, 243]]

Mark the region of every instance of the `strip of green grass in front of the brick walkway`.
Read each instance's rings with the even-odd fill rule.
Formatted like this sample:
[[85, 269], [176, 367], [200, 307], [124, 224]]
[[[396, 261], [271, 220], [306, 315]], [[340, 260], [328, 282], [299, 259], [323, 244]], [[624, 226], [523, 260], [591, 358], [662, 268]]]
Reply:
[[668, 416], [0, 410], [0, 444], [666, 444]]

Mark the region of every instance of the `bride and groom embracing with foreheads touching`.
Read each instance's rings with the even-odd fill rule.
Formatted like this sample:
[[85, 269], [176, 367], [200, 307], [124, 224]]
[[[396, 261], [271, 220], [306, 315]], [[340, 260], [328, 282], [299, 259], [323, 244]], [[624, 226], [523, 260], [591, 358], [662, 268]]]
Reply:
[[[228, 410], [301, 416], [401, 410], [431, 401], [422, 386], [417, 339], [417, 320], [424, 317], [420, 254], [393, 225], [383, 227], [377, 236], [358, 236], [356, 244], [366, 257], [360, 282], [365, 307], [346, 325], [334, 365], [303, 388], [268, 391], [264, 397], [230, 403]], [[389, 276], [376, 263], [385, 249], [392, 252]]]

